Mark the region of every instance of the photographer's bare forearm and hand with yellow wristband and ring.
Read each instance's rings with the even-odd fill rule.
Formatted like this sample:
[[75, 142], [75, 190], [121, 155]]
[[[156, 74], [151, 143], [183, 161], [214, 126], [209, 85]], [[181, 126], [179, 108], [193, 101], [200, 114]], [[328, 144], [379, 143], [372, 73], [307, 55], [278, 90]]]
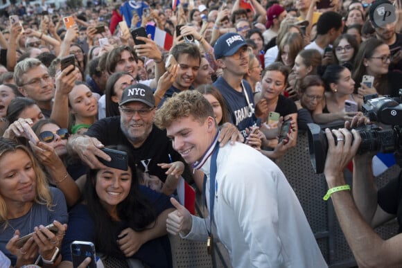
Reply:
[[[335, 145], [332, 133], [344, 141], [338, 140], [338, 144]], [[344, 167], [356, 154], [361, 141], [360, 135], [355, 129], [352, 130], [353, 143], [351, 141], [352, 133], [347, 129], [333, 130], [332, 133], [326, 129], [329, 152], [326, 157], [324, 174], [329, 188], [345, 184]], [[401, 265], [402, 256], [399, 253], [402, 247], [401, 234], [389, 240], [380, 238], [358, 212], [349, 191], [335, 192], [331, 195], [331, 199], [342, 231], [359, 267], [398, 267]]]

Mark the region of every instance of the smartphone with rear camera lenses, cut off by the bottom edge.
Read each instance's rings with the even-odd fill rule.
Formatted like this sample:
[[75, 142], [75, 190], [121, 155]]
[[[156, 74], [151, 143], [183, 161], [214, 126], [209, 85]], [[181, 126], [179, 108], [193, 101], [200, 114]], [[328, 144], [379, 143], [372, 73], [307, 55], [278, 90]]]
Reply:
[[92, 242], [87, 241], [73, 241], [70, 245], [71, 260], [73, 260], [73, 267], [77, 268], [85, 258], [91, 258], [91, 262], [87, 268], [96, 268], [96, 253], [95, 246]]

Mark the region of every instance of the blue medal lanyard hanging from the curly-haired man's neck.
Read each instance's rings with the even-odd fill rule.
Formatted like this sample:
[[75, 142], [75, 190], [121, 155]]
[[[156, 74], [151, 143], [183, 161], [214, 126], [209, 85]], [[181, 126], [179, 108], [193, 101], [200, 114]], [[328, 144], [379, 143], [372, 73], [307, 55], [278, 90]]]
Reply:
[[[215, 190], [216, 189], [216, 159], [218, 158], [218, 151], [219, 151], [219, 143], [216, 143], [215, 148], [213, 148], [212, 156], [211, 156], [211, 165], [209, 167], [209, 219], [211, 221], [211, 226], [209, 229], [212, 229], [212, 220], [213, 220], [213, 204], [215, 202]], [[202, 202], [207, 201], [207, 176], [204, 176], [204, 186], [202, 190], [202, 195], [204, 198]], [[208, 230], [208, 229], [207, 229]], [[211, 231], [208, 231], [208, 235], [211, 235]]]

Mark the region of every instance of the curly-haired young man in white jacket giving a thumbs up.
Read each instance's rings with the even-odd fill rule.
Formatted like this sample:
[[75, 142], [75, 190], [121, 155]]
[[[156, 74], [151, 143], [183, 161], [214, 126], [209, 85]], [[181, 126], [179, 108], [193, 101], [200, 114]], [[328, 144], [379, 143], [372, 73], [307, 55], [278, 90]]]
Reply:
[[168, 215], [169, 233], [219, 240], [233, 267], [327, 267], [281, 170], [243, 143], [220, 147], [213, 109], [200, 93], [183, 91], [167, 100], [155, 124], [166, 128], [187, 163], [207, 175], [204, 195], [213, 215], [192, 216], [172, 198], [177, 210]]

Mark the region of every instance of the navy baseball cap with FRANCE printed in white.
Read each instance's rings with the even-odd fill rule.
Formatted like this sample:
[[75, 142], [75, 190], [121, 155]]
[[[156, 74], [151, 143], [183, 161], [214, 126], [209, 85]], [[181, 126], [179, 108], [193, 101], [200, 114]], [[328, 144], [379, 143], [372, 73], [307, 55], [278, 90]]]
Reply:
[[247, 46], [245, 39], [238, 33], [225, 33], [216, 40], [213, 46], [216, 60], [221, 57], [231, 56], [238, 51], [242, 46]]

